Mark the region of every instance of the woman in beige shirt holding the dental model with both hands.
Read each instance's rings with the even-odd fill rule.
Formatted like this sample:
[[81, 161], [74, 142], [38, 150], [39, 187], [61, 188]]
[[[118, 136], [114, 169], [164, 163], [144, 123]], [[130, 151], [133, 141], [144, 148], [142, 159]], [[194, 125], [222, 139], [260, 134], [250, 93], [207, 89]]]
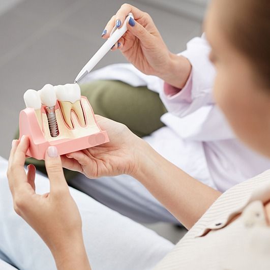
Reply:
[[[210, 58], [217, 69], [216, 102], [235, 134], [267, 157], [269, 9], [267, 0], [214, 0], [205, 22], [212, 46]], [[129, 12], [135, 17], [129, 28], [143, 27], [140, 23], [149, 20], [147, 14], [127, 4], [117, 16], [123, 20]], [[35, 181], [33, 165], [25, 173], [28, 138], [13, 141], [8, 165], [12, 197], [3, 172], [0, 182], [0, 247], [5, 258], [20, 269], [53, 269], [54, 261], [58, 269], [270, 267], [270, 170], [221, 194], [164, 159], [125, 125], [102, 116], [97, 119], [108, 131], [110, 142], [62, 157], [50, 146], [45, 157], [50, 183], [39, 176]], [[7, 164], [1, 162], [5, 168]], [[62, 165], [90, 178], [133, 176], [190, 231], [173, 248], [88, 196], [93, 204], [85, 204], [86, 195], [68, 187]], [[11, 212], [12, 203], [41, 238]]]

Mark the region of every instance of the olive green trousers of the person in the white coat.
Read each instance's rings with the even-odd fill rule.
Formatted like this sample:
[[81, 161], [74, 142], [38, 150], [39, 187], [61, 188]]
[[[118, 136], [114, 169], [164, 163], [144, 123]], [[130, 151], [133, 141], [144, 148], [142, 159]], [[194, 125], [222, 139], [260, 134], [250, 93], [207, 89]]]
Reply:
[[[87, 97], [95, 114], [125, 124], [139, 137], [147, 136], [164, 126], [160, 117], [166, 109], [158, 93], [149, 91], [147, 87], [133, 87], [112, 80], [93, 81], [80, 87], [81, 95]], [[30, 163], [46, 173], [44, 161], [29, 158], [26, 164]], [[64, 172], [67, 180], [76, 174], [66, 169]]]

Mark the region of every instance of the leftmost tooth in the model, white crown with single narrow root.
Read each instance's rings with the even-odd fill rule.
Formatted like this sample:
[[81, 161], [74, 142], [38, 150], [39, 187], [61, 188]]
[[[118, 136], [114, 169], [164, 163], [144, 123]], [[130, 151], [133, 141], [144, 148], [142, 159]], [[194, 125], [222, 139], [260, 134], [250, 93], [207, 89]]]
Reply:
[[38, 92], [34, 89], [28, 89], [23, 95], [24, 103], [27, 108], [35, 110], [39, 126], [42, 130], [41, 99]]

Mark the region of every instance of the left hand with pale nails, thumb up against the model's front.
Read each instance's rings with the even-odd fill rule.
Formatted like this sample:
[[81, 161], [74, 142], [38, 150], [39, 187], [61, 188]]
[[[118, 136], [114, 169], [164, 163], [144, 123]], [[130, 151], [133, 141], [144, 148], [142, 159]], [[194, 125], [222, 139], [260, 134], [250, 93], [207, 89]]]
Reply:
[[45, 164], [50, 192], [39, 195], [35, 189], [36, 168], [25, 173], [27, 137], [14, 140], [9, 158], [8, 179], [16, 213], [21, 216], [51, 250], [57, 269], [90, 269], [82, 238], [77, 205], [69, 193], [61, 158], [54, 146], [48, 148]]

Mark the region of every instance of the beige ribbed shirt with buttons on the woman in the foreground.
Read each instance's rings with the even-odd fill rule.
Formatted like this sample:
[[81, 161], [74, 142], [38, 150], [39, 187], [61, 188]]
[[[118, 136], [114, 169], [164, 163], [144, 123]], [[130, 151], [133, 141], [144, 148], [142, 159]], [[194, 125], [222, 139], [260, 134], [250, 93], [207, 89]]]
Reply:
[[270, 269], [269, 199], [270, 170], [229, 189], [155, 269]]

